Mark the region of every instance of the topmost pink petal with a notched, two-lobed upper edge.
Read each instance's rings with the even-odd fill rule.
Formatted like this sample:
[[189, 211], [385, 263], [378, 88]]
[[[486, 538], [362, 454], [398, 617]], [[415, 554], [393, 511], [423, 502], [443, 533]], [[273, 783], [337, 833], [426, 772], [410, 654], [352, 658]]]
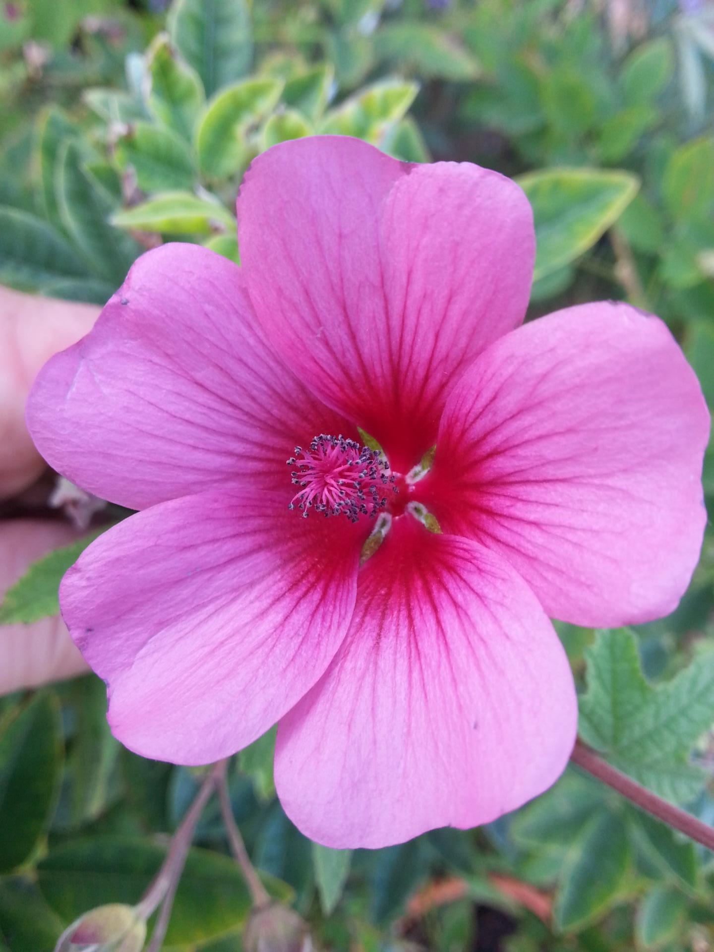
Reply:
[[238, 231], [270, 340], [396, 469], [433, 445], [455, 374], [526, 312], [530, 206], [468, 163], [407, 165], [339, 136], [284, 143], [250, 166]]

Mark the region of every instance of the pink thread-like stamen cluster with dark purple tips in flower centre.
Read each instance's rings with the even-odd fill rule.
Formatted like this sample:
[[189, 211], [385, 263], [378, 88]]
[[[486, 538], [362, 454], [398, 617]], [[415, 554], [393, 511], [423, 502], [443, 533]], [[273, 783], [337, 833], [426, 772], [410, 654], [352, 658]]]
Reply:
[[288, 466], [293, 466], [293, 485], [299, 486], [288, 508], [300, 509], [305, 518], [312, 509], [325, 516], [345, 515], [352, 523], [361, 516], [374, 519], [397, 492], [382, 453], [344, 436], [321, 433], [308, 449], [295, 446]]

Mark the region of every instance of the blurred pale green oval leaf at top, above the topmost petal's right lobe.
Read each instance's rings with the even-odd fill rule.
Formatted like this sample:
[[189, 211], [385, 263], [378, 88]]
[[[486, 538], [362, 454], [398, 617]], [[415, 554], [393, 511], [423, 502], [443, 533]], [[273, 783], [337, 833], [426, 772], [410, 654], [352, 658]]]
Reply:
[[375, 33], [374, 49], [381, 59], [395, 61], [418, 76], [466, 83], [481, 72], [458, 33], [439, 30], [426, 23], [387, 23]]

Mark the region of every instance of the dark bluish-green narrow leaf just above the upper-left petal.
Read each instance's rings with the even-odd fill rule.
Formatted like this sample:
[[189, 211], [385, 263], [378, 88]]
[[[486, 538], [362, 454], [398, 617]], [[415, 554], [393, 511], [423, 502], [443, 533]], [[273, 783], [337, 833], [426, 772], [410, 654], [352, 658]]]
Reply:
[[117, 287], [142, 248], [111, 227], [109, 195], [83, 168], [79, 150], [71, 143], [59, 157], [55, 187], [57, 206], [69, 237], [89, 267]]

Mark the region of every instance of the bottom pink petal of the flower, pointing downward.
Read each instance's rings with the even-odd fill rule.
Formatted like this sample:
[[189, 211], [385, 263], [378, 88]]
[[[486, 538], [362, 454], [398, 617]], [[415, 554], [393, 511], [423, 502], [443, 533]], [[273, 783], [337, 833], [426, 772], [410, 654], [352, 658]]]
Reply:
[[364, 566], [335, 660], [278, 726], [278, 795], [334, 847], [487, 823], [556, 780], [576, 720], [565, 653], [523, 580], [402, 519]]

